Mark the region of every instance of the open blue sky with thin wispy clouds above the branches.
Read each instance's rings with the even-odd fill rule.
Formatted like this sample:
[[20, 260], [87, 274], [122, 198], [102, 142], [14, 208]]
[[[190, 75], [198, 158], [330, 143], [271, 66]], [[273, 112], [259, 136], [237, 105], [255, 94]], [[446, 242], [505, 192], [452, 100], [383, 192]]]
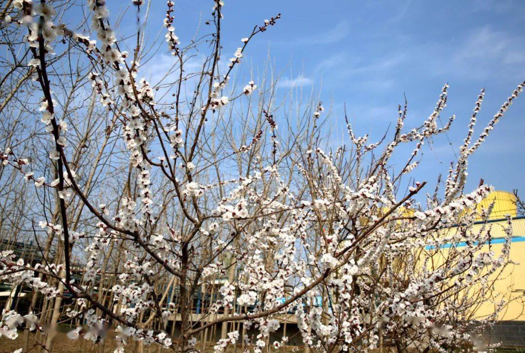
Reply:
[[[113, 14], [119, 10], [114, 6], [108, 2]], [[183, 45], [194, 35], [199, 18], [203, 23], [210, 12], [210, 1], [175, 2], [175, 32]], [[525, 79], [523, 1], [226, 0], [223, 13], [227, 57], [255, 24], [282, 14], [276, 26], [250, 42], [243, 66], [256, 71], [269, 52], [276, 70], [282, 71], [283, 94], [292, 86], [307, 92], [313, 87], [325, 107], [331, 106], [334, 141], [343, 141], [337, 130], [344, 123], [344, 104], [354, 130], [371, 134], [373, 141], [395, 122], [403, 94], [409, 104], [407, 124], [415, 126], [432, 112], [448, 82], [442, 119], [456, 114], [456, 122], [448, 136], [425, 147], [424, 162], [414, 175], [417, 180], [432, 182], [437, 173], [446, 173], [481, 88], [486, 89], [486, 98], [476, 133]], [[155, 0], [149, 24], [155, 28], [152, 36], [158, 33], [153, 23], [164, 14], [165, 2]], [[202, 28], [201, 33], [207, 30]], [[471, 158], [469, 188], [484, 178], [496, 189], [525, 192], [524, 110], [525, 97], [520, 97]]]

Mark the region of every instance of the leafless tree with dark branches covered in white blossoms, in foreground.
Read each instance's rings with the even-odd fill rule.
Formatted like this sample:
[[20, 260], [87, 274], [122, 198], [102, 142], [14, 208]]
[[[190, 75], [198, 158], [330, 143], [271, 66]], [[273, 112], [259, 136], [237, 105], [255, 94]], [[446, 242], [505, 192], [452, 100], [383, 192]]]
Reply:
[[[26, 315], [4, 309], [2, 336], [24, 330], [23, 348], [31, 348], [30, 334], [51, 351], [56, 327], [69, 324], [70, 339], [100, 344], [111, 335], [116, 352], [145, 345], [260, 352], [286, 345], [286, 336], [270, 334], [291, 313], [307, 349], [450, 351], [477, 345], [505, 307], [500, 299], [493, 315], [474, 315], [480, 301], [495, 300], [490, 283], [509, 261], [512, 228], [509, 220], [502, 253], [483, 251], [490, 232], [470, 226], [491, 187], [465, 190], [465, 181], [469, 156], [525, 83], [475, 137], [481, 92], [444, 189], [438, 183], [422, 204], [425, 181], [406, 192], [397, 186], [417, 168], [424, 142], [453, 123], [454, 116], [438, 125], [448, 85], [418, 127], [405, 127], [405, 103], [391, 136], [370, 143], [348, 124], [351, 146], [333, 149], [321, 103], [292, 123], [275, 104], [274, 82], [230, 79], [250, 40], [279, 14], [227, 55], [222, 1], [206, 22], [211, 34], [185, 41], [167, 2], [172, 67], [150, 83], [140, 63], [165, 46], [148, 41], [144, 1], [129, 4], [138, 24], [132, 34], [112, 29], [120, 19], [102, 0], [87, 1], [76, 27], [60, 24], [72, 1], [8, 3], [5, 69], [19, 80], [0, 112], [7, 106], [35, 120], [36, 105], [40, 127], [7, 132], [0, 157], [2, 172], [34, 185], [24, 191], [35, 200], [31, 217], [18, 228], [35, 239], [41, 261], [1, 253], [2, 281], [32, 291]], [[187, 69], [200, 48], [208, 56]], [[403, 145], [415, 147], [395, 170], [391, 157]], [[457, 234], [441, 231], [453, 224], [461, 224]], [[441, 252], [444, 244], [453, 250]], [[197, 311], [202, 293], [208, 299]]]

